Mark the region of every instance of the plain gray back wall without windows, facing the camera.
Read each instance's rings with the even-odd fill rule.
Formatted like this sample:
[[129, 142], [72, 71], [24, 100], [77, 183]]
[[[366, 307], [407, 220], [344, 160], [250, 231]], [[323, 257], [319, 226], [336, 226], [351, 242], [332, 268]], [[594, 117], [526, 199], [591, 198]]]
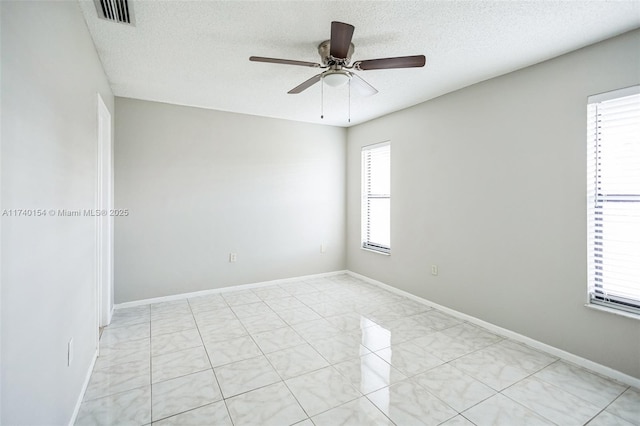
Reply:
[[345, 129], [116, 98], [116, 303], [344, 269], [345, 164]]

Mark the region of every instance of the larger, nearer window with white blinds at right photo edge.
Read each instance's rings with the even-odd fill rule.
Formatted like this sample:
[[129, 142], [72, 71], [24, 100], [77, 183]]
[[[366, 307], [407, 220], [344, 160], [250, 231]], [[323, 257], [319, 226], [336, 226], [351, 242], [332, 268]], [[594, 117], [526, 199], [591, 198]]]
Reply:
[[587, 109], [589, 303], [640, 314], [640, 86]]

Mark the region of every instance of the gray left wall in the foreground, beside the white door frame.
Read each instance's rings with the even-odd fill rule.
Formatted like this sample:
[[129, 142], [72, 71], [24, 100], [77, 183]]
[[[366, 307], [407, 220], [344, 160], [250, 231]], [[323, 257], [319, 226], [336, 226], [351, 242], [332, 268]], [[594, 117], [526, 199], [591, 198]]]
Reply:
[[[113, 96], [80, 7], [0, 7], [2, 209], [93, 208], [97, 92]], [[95, 353], [94, 219], [1, 220], [0, 423], [66, 424]]]

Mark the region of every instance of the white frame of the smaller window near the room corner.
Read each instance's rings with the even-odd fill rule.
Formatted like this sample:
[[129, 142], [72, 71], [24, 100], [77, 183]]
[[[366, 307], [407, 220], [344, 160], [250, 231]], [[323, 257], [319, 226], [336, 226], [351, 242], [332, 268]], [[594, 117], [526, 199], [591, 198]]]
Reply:
[[[367, 186], [369, 184], [367, 174], [370, 172], [367, 165], [366, 153], [384, 147], [389, 147], [389, 193], [388, 194], [372, 194], [368, 192]], [[360, 151], [360, 164], [361, 164], [361, 189], [360, 189], [360, 248], [367, 251], [372, 251], [379, 254], [391, 255], [391, 141], [378, 142], [371, 145], [365, 145]], [[389, 245], [386, 246], [381, 242], [370, 241], [370, 217], [368, 203], [371, 199], [388, 199], [389, 200]]]

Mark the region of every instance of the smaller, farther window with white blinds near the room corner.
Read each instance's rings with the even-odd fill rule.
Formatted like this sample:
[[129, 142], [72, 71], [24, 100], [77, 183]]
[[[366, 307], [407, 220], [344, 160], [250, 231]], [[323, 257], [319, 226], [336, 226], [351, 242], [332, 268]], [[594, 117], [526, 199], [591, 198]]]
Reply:
[[362, 248], [391, 252], [391, 144], [362, 148]]

